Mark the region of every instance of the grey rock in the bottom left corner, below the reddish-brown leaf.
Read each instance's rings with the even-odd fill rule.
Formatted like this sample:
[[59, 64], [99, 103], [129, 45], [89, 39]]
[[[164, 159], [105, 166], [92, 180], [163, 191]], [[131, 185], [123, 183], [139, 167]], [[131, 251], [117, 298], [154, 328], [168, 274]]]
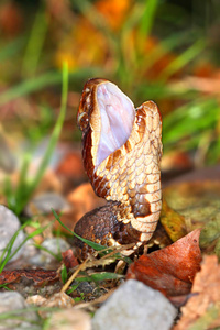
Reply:
[[[21, 312], [19, 312], [20, 309]], [[16, 312], [13, 314], [13, 310]], [[3, 318], [3, 314], [6, 314], [6, 318]], [[36, 326], [36, 322], [40, 322], [37, 314], [28, 309], [24, 298], [16, 292], [0, 293], [0, 330], [41, 329]]]

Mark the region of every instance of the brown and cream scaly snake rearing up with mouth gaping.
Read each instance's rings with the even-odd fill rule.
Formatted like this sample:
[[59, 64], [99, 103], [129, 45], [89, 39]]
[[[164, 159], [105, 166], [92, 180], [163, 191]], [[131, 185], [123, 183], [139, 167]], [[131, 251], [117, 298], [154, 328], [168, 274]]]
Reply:
[[[162, 209], [158, 107], [145, 101], [135, 109], [117, 85], [92, 78], [84, 86], [77, 124], [82, 132], [85, 170], [96, 195], [107, 202], [86, 213], [75, 233], [107, 246], [145, 244]], [[79, 258], [86, 258], [92, 249], [74, 240]]]

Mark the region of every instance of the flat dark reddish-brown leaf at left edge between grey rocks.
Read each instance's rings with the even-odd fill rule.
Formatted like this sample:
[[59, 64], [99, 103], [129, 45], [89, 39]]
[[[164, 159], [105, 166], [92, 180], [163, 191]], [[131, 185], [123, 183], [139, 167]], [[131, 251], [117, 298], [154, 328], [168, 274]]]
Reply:
[[44, 283], [54, 282], [59, 279], [56, 271], [47, 271], [43, 268], [37, 270], [15, 270], [15, 271], [3, 271], [0, 274], [0, 284], [19, 282], [21, 277], [32, 279], [37, 285]]

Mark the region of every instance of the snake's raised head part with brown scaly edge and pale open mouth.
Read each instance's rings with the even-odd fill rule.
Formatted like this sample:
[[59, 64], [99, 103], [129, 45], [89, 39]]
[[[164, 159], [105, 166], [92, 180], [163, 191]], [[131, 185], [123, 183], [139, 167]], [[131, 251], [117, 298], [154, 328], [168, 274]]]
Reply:
[[101, 78], [86, 82], [77, 122], [82, 131], [84, 148], [91, 148], [94, 167], [128, 141], [134, 119], [133, 102], [114, 84]]

